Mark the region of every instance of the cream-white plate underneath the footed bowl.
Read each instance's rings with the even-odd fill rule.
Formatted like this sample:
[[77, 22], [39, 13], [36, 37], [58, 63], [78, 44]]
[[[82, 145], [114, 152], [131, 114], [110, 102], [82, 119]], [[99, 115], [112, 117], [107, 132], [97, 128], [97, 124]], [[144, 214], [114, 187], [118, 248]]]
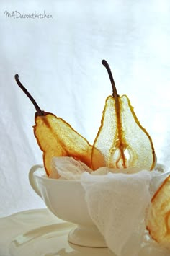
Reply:
[[14, 214], [0, 219], [0, 225], [4, 229], [4, 242], [0, 242], [3, 256], [114, 256], [107, 248], [68, 243], [68, 232], [75, 225], [56, 218], [47, 209]]

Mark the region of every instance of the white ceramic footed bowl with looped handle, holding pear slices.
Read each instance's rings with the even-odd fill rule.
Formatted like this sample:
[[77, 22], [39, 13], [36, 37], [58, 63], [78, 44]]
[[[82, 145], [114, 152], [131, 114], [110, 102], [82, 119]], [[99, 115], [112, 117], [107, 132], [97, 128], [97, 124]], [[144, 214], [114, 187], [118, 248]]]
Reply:
[[79, 180], [51, 179], [42, 165], [30, 169], [29, 180], [33, 190], [55, 216], [76, 224], [68, 234], [68, 242], [85, 247], [107, 247], [89, 216], [84, 188]]

